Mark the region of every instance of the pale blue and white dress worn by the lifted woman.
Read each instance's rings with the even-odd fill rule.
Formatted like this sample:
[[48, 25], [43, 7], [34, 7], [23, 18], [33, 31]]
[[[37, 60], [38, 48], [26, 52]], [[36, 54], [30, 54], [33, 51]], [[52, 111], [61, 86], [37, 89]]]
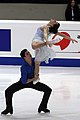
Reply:
[[[33, 42], [44, 42], [44, 35], [43, 31], [40, 29], [40, 27], [37, 29], [37, 32], [33, 38]], [[41, 48], [37, 48], [35, 50], [35, 61], [43, 62], [45, 61], [46, 63], [49, 62], [49, 59], [52, 60], [56, 56], [55, 52], [53, 51], [52, 48], [48, 46], [44, 46]]]

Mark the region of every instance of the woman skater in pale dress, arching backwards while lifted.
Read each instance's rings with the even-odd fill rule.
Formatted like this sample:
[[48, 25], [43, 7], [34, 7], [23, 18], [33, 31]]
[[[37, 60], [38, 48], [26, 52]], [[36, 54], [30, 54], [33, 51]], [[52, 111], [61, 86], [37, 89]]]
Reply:
[[55, 57], [55, 53], [52, 50], [52, 44], [55, 44], [60, 41], [60, 39], [54, 38], [52, 41], [48, 41], [50, 34], [56, 34], [66, 38], [70, 41], [77, 42], [75, 39], [72, 39], [61, 32], [58, 32], [60, 24], [51, 19], [47, 25], [41, 26], [37, 29], [37, 32], [32, 41], [32, 48], [35, 50], [35, 73], [34, 76], [39, 75], [39, 65], [42, 61], [48, 63], [49, 58], [52, 60]]

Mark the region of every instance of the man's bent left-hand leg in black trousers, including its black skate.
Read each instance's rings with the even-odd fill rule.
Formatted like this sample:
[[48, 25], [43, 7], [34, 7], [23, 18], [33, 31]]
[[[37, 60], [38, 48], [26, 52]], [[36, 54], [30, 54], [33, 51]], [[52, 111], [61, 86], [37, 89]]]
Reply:
[[21, 84], [21, 82], [16, 82], [14, 84], [12, 84], [11, 86], [9, 86], [6, 90], [5, 90], [5, 99], [6, 99], [6, 109], [4, 111], [1, 112], [1, 114], [13, 114], [13, 107], [12, 107], [12, 97], [13, 94], [20, 90], [23, 89], [23, 84]]

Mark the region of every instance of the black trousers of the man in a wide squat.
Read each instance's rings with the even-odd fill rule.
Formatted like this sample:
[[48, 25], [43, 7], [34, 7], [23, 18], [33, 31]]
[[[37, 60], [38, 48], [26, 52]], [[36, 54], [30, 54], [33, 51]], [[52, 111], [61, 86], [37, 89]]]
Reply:
[[33, 82], [28, 83], [28, 84], [22, 84], [21, 81], [18, 81], [11, 86], [9, 86], [5, 90], [5, 98], [6, 98], [6, 108], [11, 109], [12, 108], [12, 97], [13, 94], [23, 88], [33, 88], [38, 91], [44, 92], [41, 104], [39, 107], [41, 108], [47, 108], [47, 103], [51, 94], [52, 89], [49, 88], [47, 85], [38, 82], [37, 84], [33, 84]]

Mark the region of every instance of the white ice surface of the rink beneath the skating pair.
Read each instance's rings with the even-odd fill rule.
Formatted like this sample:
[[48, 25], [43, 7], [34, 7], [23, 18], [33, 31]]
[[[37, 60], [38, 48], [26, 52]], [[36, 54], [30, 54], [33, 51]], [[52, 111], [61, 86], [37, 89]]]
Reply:
[[[20, 78], [20, 66], [0, 66], [0, 112], [5, 109], [5, 89]], [[43, 93], [27, 88], [13, 96], [13, 115], [0, 120], [80, 120], [80, 67], [40, 67], [40, 81], [52, 88], [48, 108], [39, 114]]]

